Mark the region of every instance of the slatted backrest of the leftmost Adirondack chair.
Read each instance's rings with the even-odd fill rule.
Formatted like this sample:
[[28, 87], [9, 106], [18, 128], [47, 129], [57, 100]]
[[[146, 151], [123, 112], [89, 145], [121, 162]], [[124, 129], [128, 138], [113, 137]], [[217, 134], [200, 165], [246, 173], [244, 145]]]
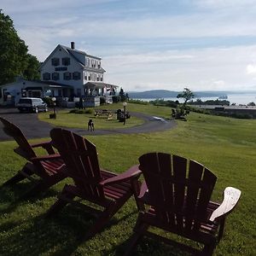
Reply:
[[15, 148], [15, 152], [25, 157], [26, 160], [31, 160], [32, 157], [36, 157], [37, 155], [27, 142], [23, 132], [20, 131], [20, 128], [3, 117], [0, 117], [0, 120], [3, 123], [3, 131], [10, 137], [13, 137], [19, 145], [19, 148]]

